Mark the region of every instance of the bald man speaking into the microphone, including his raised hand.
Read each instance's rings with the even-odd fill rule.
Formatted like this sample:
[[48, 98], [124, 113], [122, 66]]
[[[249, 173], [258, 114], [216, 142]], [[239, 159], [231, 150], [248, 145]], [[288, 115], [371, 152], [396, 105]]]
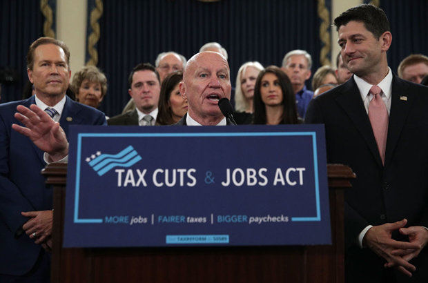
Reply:
[[[220, 53], [207, 51], [194, 55], [186, 64], [183, 81], [179, 84], [182, 97], [188, 100], [188, 113], [175, 125], [232, 125], [218, 107], [220, 99], [231, 97], [230, 73], [227, 60]], [[29, 137], [47, 154], [48, 161], [58, 162], [67, 157], [67, 137], [59, 123], [48, 119], [48, 114], [37, 106], [30, 108], [17, 108], [21, 113], [17, 119], [25, 127], [15, 124], [13, 129]]]

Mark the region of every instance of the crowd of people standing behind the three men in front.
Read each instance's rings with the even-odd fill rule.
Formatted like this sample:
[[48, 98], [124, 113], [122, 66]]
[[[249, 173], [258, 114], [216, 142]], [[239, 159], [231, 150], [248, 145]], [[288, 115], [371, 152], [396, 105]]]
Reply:
[[[226, 50], [217, 42], [206, 43], [200, 52], [218, 52], [228, 59]], [[108, 119], [109, 125], [165, 126], [177, 123], [187, 112], [187, 100], [179, 92], [186, 58], [177, 52], [162, 52], [155, 60], [137, 65], [129, 76], [130, 100], [121, 115]], [[352, 73], [345, 66], [340, 53], [337, 69], [322, 66], [312, 78], [312, 91], [307, 89], [311, 77], [311, 55], [304, 50], [288, 52], [280, 68], [264, 68], [257, 61], [245, 62], [237, 72], [232, 95], [235, 102], [233, 117], [242, 124], [300, 124], [309, 101], [347, 81]], [[398, 67], [398, 76], [417, 84], [428, 85], [428, 57], [409, 55]], [[67, 95], [81, 104], [98, 108], [107, 92], [107, 78], [95, 66], [77, 71]], [[23, 99], [34, 95], [28, 82]], [[146, 117], [147, 116], [147, 117]], [[144, 118], [146, 117], [146, 118]]]

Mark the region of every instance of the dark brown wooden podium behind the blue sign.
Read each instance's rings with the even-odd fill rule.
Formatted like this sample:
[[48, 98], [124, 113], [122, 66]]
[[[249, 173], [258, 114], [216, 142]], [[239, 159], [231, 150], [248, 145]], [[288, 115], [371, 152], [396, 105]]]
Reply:
[[67, 164], [49, 164], [43, 175], [54, 190], [52, 283], [344, 282], [342, 188], [356, 176], [343, 165], [327, 172], [332, 245], [62, 248]]

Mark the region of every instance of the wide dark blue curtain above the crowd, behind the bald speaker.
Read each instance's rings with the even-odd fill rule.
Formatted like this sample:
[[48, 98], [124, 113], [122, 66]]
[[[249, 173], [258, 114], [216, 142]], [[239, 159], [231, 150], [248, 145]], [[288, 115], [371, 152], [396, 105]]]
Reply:
[[244, 62], [281, 66], [293, 49], [312, 55], [313, 72], [320, 66], [316, 0], [104, 0], [103, 5], [97, 66], [108, 78], [100, 110], [110, 117], [130, 98], [130, 70], [141, 62], [154, 65], [159, 52], [174, 50], [189, 59], [204, 43], [217, 41], [228, 51], [233, 86]]

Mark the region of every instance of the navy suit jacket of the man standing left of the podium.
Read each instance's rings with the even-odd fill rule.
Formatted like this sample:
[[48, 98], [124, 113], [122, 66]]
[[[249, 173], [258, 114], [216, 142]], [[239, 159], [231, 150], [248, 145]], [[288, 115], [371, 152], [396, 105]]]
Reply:
[[[14, 118], [20, 104], [29, 107], [35, 97], [0, 105], [0, 274], [7, 275], [28, 273], [41, 251], [26, 234], [14, 238], [28, 220], [21, 212], [52, 209], [52, 189], [46, 188], [40, 173], [46, 166], [43, 152], [12, 130], [12, 124], [23, 126]], [[68, 125], [105, 125], [106, 118], [67, 97], [59, 123], [68, 136]]]

